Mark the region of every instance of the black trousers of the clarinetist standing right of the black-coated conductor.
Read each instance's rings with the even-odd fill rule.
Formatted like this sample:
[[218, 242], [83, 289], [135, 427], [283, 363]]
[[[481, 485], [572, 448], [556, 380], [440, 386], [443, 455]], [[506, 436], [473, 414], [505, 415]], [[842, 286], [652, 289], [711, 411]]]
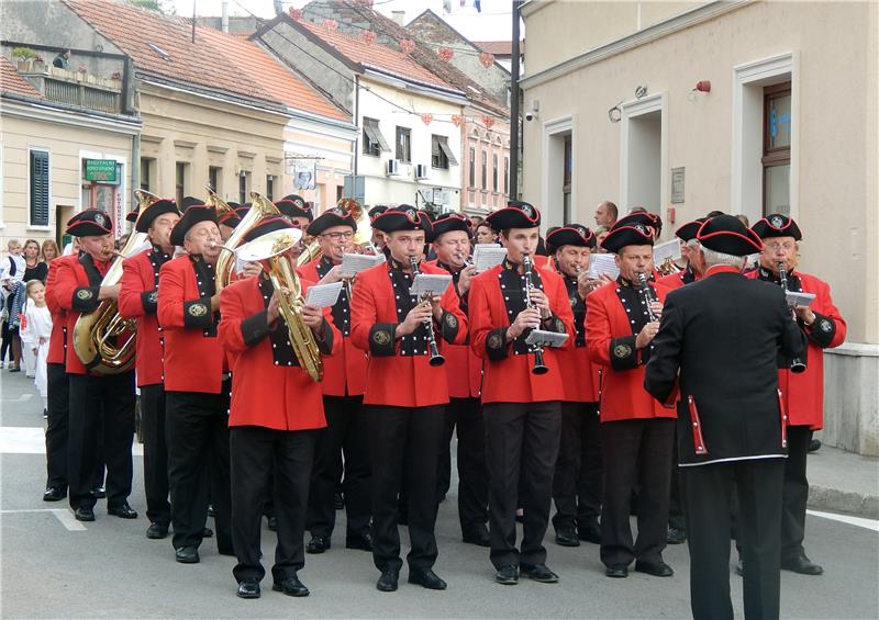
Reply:
[[805, 504], [809, 500], [805, 461], [811, 442], [812, 431], [808, 426], [788, 427], [788, 458], [781, 492], [781, 557], [785, 560], [804, 553]]

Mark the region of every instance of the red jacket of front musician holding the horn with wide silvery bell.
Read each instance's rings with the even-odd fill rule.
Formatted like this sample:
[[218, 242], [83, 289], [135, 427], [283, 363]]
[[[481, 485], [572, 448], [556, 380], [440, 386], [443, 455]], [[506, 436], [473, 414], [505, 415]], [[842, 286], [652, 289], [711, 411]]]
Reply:
[[[259, 290], [260, 278], [234, 282], [220, 295], [223, 317], [220, 341], [234, 360], [229, 426], [276, 430], [323, 428], [326, 420], [320, 383], [312, 381], [298, 365], [283, 365], [275, 358], [272, 330], [266, 323], [267, 306]], [[309, 283], [304, 280], [301, 283], [304, 293]], [[342, 335], [332, 324], [330, 308], [324, 308], [324, 337], [319, 342], [330, 352], [341, 346]], [[276, 337], [288, 337], [282, 319], [274, 331], [278, 332]]]

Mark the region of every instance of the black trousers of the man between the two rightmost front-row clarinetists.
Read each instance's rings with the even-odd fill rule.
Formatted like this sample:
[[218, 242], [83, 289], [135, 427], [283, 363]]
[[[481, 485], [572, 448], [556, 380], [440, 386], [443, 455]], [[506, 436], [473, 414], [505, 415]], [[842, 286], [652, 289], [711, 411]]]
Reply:
[[553, 527], [586, 528], [601, 514], [601, 424], [598, 403], [561, 403], [553, 499]]

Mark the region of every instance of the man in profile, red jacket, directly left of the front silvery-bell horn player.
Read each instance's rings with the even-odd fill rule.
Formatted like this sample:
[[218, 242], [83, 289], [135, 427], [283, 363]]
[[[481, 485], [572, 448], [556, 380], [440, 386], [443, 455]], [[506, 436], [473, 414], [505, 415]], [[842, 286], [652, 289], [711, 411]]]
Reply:
[[165, 418], [175, 559], [199, 562], [208, 517], [214, 506], [216, 548], [232, 555], [229, 483], [230, 380], [216, 338], [220, 309], [214, 267], [221, 237], [210, 206], [186, 210], [170, 234], [186, 255], [162, 266], [158, 324], [165, 334]]

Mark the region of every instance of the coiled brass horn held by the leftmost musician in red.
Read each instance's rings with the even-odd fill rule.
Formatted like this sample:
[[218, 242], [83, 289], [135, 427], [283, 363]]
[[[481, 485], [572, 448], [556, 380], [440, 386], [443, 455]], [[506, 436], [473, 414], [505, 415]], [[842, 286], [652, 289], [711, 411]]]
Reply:
[[[144, 190], [135, 190], [140, 219], [146, 207], [162, 200]], [[114, 286], [122, 280], [122, 261], [143, 249], [148, 240], [146, 233], [132, 232], [125, 247], [114, 252], [116, 258], [101, 280], [101, 286]], [[135, 354], [135, 323], [119, 315], [115, 300], [104, 300], [88, 314], [81, 315], [74, 326], [74, 350], [82, 364], [100, 374], [118, 374], [131, 369]], [[126, 334], [127, 332], [127, 334]], [[121, 345], [116, 337], [125, 335]]]

